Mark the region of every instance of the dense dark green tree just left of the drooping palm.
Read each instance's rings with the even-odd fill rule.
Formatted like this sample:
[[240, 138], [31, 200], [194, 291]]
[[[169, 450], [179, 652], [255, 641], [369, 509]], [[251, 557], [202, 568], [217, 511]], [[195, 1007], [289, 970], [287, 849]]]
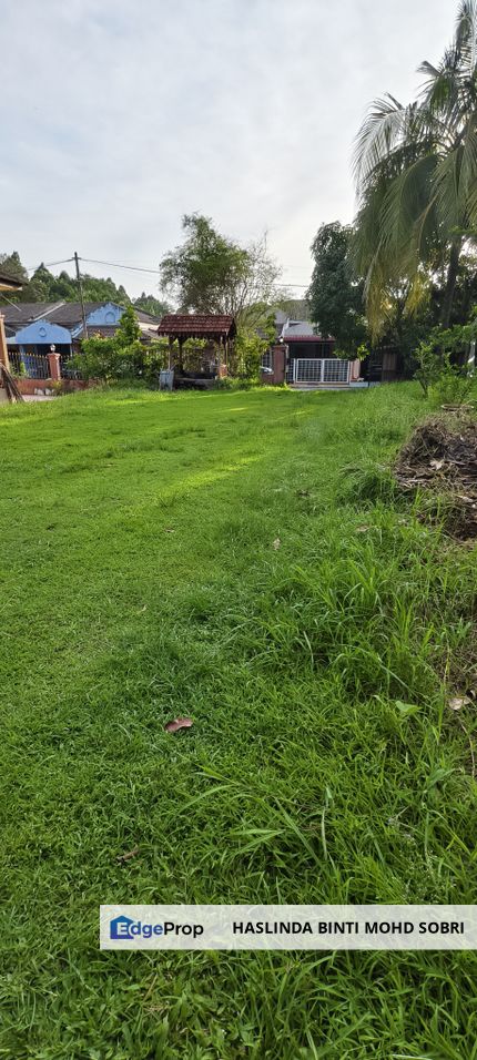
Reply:
[[351, 254], [352, 228], [324, 224], [312, 243], [314, 268], [307, 292], [312, 319], [324, 335], [333, 335], [344, 353], [366, 340], [364, 283], [355, 277]]

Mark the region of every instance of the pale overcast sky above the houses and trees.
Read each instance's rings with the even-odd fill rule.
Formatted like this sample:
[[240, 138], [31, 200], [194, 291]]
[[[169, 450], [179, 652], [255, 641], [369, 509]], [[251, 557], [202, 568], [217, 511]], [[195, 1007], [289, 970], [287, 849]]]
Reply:
[[[352, 220], [367, 104], [413, 96], [456, 6], [0, 0], [0, 251], [27, 266], [78, 249], [154, 268], [199, 211], [241, 241], [267, 230], [300, 295], [318, 225]], [[158, 282], [84, 268], [132, 294]]]

